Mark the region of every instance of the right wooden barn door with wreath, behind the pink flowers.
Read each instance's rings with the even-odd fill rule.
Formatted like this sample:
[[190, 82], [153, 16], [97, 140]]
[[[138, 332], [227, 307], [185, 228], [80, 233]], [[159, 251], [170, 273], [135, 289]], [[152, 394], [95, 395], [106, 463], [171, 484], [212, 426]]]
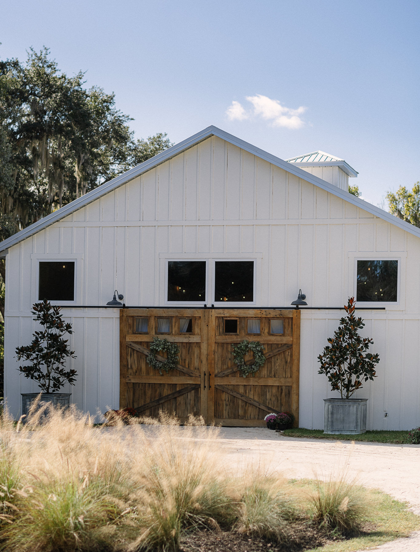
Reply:
[[[214, 309], [209, 321], [208, 417], [223, 426], [265, 426], [269, 412], [299, 414], [299, 310]], [[264, 346], [266, 361], [243, 378], [232, 346], [244, 339]], [[213, 347], [210, 347], [213, 343]], [[253, 363], [253, 354], [245, 357]]]

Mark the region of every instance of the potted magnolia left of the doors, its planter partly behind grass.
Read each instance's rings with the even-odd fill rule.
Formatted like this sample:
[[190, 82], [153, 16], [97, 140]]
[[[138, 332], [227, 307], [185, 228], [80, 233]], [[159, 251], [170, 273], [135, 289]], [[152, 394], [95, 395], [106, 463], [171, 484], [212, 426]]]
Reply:
[[[64, 335], [73, 333], [70, 323], [62, 321], [60, 307], [52, 306], [49, 301], [35, 303], [32, 314], [43, 327], [33, 333], [33, 341], [26, 346], [16, 348], [18, 360], [23, 365], [18, 370], [25, 378], [35, 380], [41, 390], [40, 402], [51, 402], [53, 405], [70, 404], [71, 393], [59, 392], [66, 384], [74, 385], [76, 370], [67, 370], [67, 358], [76, 358], [70, 351], [68, 339]], [[38, 393], [22, 393], [22, 414], [27, 414], [31, 403]]]

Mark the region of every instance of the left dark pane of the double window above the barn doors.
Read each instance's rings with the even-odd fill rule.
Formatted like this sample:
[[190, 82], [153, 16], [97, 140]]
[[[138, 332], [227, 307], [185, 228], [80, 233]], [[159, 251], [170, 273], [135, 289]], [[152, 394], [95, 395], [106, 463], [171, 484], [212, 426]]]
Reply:
[[206, 261], [168, 261], [167, 300], [206, 301]]

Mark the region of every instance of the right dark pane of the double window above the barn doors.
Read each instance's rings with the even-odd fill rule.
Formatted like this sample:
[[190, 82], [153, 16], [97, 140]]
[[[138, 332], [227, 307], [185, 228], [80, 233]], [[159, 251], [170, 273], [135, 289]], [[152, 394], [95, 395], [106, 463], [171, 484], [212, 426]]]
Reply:
[[214, 302], [254, 301], [254, 261], [214, 263]]

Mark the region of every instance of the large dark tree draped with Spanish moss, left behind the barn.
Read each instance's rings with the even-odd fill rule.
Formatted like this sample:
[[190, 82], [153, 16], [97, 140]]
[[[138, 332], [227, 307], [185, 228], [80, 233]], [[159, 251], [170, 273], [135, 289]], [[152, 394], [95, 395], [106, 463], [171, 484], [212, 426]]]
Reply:
[[[114, 94], [83, 78], [45, 47], [0, 60], [0, 241], [172, 145], [162, 133], [135, 140]], [[2, 316], [4, 275], [0, 260]]]

